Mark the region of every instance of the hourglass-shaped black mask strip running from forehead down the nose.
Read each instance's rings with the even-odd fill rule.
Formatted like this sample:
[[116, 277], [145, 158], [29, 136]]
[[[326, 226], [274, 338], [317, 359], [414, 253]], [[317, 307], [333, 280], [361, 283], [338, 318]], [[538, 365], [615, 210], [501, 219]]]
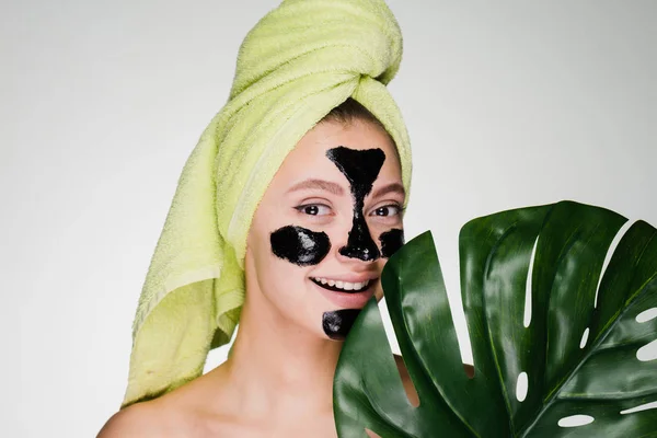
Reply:
[[341, 247], [339, 253], [364, 262], [373, 262], [381, 254], [377, 243], [370, 237], [362, 209], [365, 197], [371, 192], [374, 180], [379, 176], [379, 171], [385, 161], [385, 153], [381, 149], [355, 150], [339, 146], [327, 150], [326, 157], [345, 175], [354, 197], [354, 224], [349, 231], [347, 245]]

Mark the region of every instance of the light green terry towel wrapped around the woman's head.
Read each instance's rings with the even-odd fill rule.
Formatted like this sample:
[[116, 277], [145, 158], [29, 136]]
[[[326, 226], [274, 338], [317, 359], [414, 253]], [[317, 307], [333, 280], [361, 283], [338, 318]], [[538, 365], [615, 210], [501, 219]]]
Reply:
[[244, 301], [251, 220], [287, 153], [351, 96], [395, 141], [410, 188], [406, 128], [385, 84], [402, 35], [381, 0], [287, 0], [246, 35], [228, 103], [192, 152], [139, 299], [123, 406], [198, 377]]

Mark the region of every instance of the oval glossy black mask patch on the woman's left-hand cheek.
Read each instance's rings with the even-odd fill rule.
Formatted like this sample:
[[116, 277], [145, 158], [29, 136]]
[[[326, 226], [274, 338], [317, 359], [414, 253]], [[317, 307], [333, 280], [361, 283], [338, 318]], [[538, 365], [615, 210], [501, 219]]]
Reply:
[[331, 251], [325, 232], [314, 232], [301, 227], [283, 227], [269, 237], [272, 251], [279, 257], [299, 266], [319, 264]]

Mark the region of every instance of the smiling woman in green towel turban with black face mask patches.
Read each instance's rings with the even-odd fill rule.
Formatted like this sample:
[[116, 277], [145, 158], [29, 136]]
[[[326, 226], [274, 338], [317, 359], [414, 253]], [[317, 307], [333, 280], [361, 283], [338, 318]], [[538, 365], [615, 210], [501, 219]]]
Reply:
[[[100, 437], [335, 436], [341, 341], [403, 243], [410, 149], [384, 88], [400, 60], [382, 1], [287, 0], [250, 32], [183, 171], [125, 408]], [[229, 359], [200, 376], [238, 319]]]

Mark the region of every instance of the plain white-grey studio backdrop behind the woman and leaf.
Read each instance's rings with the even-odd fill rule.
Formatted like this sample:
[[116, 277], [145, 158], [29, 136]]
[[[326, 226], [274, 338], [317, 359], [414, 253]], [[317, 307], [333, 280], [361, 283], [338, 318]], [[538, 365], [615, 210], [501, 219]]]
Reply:
[[[2, 1], [0, 435], [92, 437], [117, 410], [177, 177], [277, 3]], [[433, 230], [452, 302], [476, 216], [573, 199], [657, 224], [657, 2], [390, 7], [405, 45], [390, 90], [414, 148], [406, 234]]]

